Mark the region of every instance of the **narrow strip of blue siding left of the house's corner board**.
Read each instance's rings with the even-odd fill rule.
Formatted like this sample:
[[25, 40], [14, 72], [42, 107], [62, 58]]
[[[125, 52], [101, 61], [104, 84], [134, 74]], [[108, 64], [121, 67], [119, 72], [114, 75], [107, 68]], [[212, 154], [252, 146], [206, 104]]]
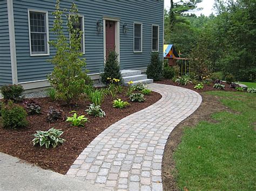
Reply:
[[0, 1], [0, 86], [11, 84], [11, 58], [6, 1]]

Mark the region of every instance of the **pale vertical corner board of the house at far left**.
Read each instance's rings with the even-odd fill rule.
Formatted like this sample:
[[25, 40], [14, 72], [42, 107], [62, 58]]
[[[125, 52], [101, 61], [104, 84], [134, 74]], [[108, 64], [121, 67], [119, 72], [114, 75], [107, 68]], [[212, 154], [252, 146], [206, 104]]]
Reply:
[[15, 28], [14, 28], [14, 6], [12, 0], [7, 1], [8, 25], [10, 38], [10, 56], [11, 56], [11, 75], [12, 84], [18, 83], [16, 45], [15, 45]]

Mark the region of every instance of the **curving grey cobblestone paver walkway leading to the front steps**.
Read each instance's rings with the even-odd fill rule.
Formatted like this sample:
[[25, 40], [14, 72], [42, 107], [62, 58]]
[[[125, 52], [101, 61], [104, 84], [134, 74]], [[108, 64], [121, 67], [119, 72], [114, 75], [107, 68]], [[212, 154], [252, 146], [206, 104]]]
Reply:
[[67, 175], [111, 190], [163, 190], [161, 161], [171, 131], [200, 105], [195, 91], [150, 84], [163, 97], [111, 125], [79, 155]]

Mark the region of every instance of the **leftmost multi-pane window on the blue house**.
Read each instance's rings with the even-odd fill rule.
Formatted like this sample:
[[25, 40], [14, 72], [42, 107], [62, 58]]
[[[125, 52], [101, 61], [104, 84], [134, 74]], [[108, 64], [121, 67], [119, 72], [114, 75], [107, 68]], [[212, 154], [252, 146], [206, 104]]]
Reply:
[[48, 12], [28, 10], [30, 55], [49, 55]]

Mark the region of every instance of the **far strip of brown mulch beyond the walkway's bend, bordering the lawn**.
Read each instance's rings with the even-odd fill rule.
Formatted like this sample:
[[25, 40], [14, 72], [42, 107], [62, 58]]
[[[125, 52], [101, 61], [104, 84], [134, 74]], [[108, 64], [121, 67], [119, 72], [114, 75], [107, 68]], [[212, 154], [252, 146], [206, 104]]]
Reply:
[[161, 81], [156, 81], [154, 83], [162, 83], [162, 84], [167, 84], [167, 85], [172, 85], [172, 86], [179, 86], [179, 87], [183, 87], [183, 88], [187, 88], [187, 89], [192, 89], [194, 91], [197, 91], [198, 93], [202, 93], [202, 92], [205, 92], [205, 91], [237, 91], [235, 90], [234, 88], [230, 88], [230, 85], [227, 84], [227, 83], [224, 83], [225, 84], [225, 89], [216, 89], [216, 88], [213, 88], [213, 83], [210, 82], [210, 86], [207, 86], [207, 84], [204, 84], [204, 89], [195, 89], [194, 88], [194, 84], [193, 83], [188, 83], [186, 86], [181, 86], [179, 85], [177, 82], [173, 82], [172, 80], [161, 80]]

